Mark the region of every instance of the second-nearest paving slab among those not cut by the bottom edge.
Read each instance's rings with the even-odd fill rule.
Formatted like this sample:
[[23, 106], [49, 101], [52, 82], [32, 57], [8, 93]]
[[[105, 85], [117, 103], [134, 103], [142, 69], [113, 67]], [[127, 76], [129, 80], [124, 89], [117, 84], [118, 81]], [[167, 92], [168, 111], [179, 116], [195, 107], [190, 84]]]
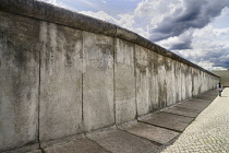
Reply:
[[141, 121], [153, 125], [153, 126], [159, 126], [167, 129], [172, 129], [176, 131], [183, 131], [189, 123], [191, 123], [193, 118], [191, 117], [184, 117], [180, 115], [173, 115], [169, 113], [158, 113], [155, 115], [152, 115], [148, 118], [141, 119]]

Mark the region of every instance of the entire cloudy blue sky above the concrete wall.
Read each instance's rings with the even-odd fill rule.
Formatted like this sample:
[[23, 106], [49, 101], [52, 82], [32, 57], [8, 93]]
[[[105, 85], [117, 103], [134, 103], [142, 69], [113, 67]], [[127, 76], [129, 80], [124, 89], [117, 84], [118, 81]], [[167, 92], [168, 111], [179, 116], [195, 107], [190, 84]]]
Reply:
[[229, 0], [39, 0], [128, 28], [206, 70], [229, 69]]

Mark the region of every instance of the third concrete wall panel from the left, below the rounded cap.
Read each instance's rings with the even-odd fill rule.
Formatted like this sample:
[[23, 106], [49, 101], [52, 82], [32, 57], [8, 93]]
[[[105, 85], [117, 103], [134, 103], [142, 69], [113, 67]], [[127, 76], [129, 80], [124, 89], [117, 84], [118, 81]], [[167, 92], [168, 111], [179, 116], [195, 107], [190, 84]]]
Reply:
[[113, 38], [84, 32], [83, 46], [83, 115], [89, 131], [114, 123]]

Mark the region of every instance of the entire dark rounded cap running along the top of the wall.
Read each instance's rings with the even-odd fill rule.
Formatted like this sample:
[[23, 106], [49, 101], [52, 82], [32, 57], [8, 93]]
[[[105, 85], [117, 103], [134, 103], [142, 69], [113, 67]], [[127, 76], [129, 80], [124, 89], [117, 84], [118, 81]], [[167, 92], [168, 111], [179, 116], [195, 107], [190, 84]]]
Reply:
[[216, 74], [154, 44], [153, 42], [137, 35], [136, 33], [101, 20], [65, 10], [63, 8], [55, 7], [46, 2], [37, 0], [0, 0], [0, 10], [132, 42], [162, 56], [217, 76]]

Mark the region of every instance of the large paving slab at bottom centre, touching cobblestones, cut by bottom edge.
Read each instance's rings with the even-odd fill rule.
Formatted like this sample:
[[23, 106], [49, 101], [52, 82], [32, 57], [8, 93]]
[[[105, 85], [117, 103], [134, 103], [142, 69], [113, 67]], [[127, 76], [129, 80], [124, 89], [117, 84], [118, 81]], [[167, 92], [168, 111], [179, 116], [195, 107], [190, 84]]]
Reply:
[[109, 129], [87, 136], [112, 153], [154, 153], [157, 145], [129, 132]]

